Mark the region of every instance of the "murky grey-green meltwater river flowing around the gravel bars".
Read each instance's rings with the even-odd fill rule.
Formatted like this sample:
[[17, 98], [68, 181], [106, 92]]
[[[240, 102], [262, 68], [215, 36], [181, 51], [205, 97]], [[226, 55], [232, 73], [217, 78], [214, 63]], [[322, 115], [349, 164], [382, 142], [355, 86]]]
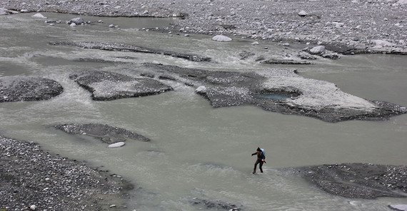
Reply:
[[[356, 55], [318, 59], [310, 66], [273, 66], [256, 56], [286, 55], [304, 46], [234, 38], [138, 30], [169, 26], [171, 19], [84, 16], [92, 24], [69, 26], [77, 16], [44, 13], [0, 16], [0, 76], [43, 76], [64, 86], [49, 101], [0, 104], [0, 133], [39, 143], [44, 150], [90, 166], [104, 166], [137, 187], [129, 210], [201, 210], [194, 197], [242, 205], [244, 210], [389, 210], [406, 198], [347, 199], [318, 190], [281, 168], [332, 163], [407, 164], [407, 115], [386, 121], [326, 123], [314, 118], [271, 113], [255, 106], [212, 108], [195, 88], [162, 81], [174, 91], [116, 101], [92, 101], [91, 94], [69, 79], [76, 71], [104, 70], [132, 76], [145, 62], [216, 71], [296, 68], [307, 78], [336, 83], [355, 96], [407, 105], [406, 56]], [[97, 23], [98, 20], [103, 23]], [[109, 24], [120, 26], [109, 28]], [[50, 46], [49, 41], [109, 41], [213, 58], [198, 63], [163, 55]], [[298, 46], [297, 46], [298, 45]], [[267, 47], [267, 48], [265, 48]], [[254, 58], [241, 60], [246, 50]], [[78, 61], [97, 58], [123, 63]], [[104, 123], [146, 136], [151, 142], [127, 141], [122, 148], [51, 128], [64, 123]], [[265, 172], [253, 175], [254, 153], [266, 150]]]

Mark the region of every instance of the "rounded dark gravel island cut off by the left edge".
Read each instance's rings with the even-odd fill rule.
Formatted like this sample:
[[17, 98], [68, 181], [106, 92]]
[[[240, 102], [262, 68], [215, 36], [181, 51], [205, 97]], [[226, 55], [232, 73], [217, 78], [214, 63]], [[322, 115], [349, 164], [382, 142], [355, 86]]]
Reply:
[[44, 101], [64, 91], [61, 84], [49, 78], [6, 76], [0, 78], [0, 103]]

